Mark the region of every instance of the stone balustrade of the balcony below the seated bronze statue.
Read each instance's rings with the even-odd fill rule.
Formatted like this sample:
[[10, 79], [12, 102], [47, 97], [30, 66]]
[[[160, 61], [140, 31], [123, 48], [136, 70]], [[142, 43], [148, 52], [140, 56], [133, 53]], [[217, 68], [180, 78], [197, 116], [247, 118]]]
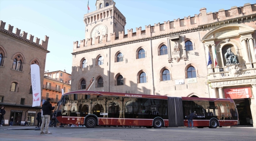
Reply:
[[234, 76], [237, 78], [256, 76], [256, 68], [239, 70], [236, 74], [232, 74], [232, 72], [229, 72], [229, 71], [210, 73], [210, 80], [234, 78]]

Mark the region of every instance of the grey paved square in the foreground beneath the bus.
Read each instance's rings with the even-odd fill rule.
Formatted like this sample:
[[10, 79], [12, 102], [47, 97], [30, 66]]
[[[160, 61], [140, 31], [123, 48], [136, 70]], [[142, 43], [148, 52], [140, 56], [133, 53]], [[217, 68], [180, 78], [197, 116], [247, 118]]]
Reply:
[[49, 127], [50, 135], [40, 135], [38, 130], [3, 130], [7, 128], [0, 127], [0, 141], [256, 141], [256, 128]]

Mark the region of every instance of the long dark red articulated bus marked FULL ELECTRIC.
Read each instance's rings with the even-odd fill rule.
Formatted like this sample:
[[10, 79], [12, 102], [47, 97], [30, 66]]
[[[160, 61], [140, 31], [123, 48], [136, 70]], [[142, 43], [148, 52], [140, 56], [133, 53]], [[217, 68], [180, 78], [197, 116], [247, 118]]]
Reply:
[[194, 126], [217, 128], [237, 125], [232, 99], [169, 97], [147, 94], [96, 92], [63, 94], [58, 103], [59, 123], [102, 126], [184, 127], [186, 116], [195, 112]]

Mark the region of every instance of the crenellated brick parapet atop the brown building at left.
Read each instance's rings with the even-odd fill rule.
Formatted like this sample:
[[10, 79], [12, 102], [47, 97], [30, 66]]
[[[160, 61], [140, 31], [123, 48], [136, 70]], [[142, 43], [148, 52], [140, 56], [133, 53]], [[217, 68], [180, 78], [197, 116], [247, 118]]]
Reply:
[[19, 40], [22, 40], [26, 43], [30, 43], [36, 47], [39, 47], [41, 49], [47, 50], [48, 47], [48, 40], [49, 37], [45, 36], [45, 40], [41, 40], [41, 44], [39, 44], [40, 39], [39, 38], [35, 38], [35, 42], [33, 42], [34, 40], [34, 36], [32, 36], [31, 34], [28, 36], [28, 33], [26, 33], [25, 31], [22, 31], [22, 33], [20, 33], [20, 29], [16, 28], [15, 29], [15, 33], [13, 33], [13, 26], [8, 25], [7, 26], [7, 30], [4, 29], [6, 25], [6, 22], [3, 22], [2, 20], [0, 20], [0, 31], [2, 33], [6, 33], [9, 34], [10, 36], [13, 36], [14, 38], [17, 38]]

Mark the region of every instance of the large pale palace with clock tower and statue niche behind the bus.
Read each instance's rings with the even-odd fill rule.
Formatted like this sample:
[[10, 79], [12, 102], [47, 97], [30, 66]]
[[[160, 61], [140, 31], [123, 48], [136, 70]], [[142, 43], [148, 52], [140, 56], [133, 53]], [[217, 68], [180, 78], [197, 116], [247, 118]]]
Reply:
[[256, 127], [256, 4], [214, 13], [201, 8], [127, 34], [115, 3], [96, 6], [83, 17], [85, 40], [73, 42], [71, 90], [85, 89], [92, 76], [90, 90], [135, 94], [230, 98], [224, 92], [246, 87], [252, 95], [234, 100], [240, 123]]

